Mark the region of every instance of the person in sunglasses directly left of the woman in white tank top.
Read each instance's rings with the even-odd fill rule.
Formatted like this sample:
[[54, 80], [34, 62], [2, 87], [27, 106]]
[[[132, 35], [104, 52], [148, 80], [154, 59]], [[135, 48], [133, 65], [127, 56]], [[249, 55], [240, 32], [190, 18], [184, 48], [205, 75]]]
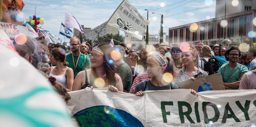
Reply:
[[48, 68], [50, 67], [48, 58], [45, 57], [45, 52], [46, 49], [42, 45], [38, 45], [36, 53], [38, 54], [38, 69], [42, 72], [47, 73]]

